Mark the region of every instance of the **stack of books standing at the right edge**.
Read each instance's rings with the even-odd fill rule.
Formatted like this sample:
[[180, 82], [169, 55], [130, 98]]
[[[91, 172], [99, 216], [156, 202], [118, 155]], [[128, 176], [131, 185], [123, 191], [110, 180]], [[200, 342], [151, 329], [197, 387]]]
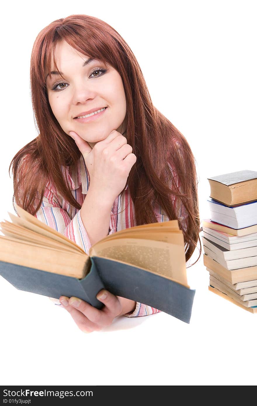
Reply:
[[210, 219], [203, 220], [209, 290], [257, 313], [257, 172], [208, 178]]

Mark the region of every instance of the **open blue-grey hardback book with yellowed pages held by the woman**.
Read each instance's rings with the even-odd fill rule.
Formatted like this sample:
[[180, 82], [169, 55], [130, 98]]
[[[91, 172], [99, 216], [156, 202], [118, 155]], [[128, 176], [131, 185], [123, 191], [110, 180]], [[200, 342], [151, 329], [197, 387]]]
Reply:
[[59, 298], [76, 296], [97, 309], [96, 295], [147, 304], [189, 323], [194, 300], [186, 276], [184, 236], [177, 220], [124, 229], [80, 246], [19, 206], [0, 222], [0, 275], [17, 289]]

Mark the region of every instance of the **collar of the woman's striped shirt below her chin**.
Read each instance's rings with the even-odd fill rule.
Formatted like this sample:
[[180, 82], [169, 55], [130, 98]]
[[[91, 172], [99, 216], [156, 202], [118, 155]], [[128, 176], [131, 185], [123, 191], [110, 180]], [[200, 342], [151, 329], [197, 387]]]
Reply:
[[[82, 194], [87, 194], [90, 185], [90, 175], [89, 171], [86, 168], [86, 164], [83, 158], [83, 155], [80, 155], [77, 166], [73, 168], [71, 173], [69, 173], [69, 166], [65, 167], [66, 175], [69, 182], [69, 190], [75, 190], [82, 188]], [[127, 190], [128, 185], [125, 187]]]

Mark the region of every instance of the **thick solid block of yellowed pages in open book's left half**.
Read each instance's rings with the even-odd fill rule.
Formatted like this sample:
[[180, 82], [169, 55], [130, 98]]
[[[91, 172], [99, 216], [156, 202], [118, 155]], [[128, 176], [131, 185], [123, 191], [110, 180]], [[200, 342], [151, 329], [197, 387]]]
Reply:
[[[22, 240], [10, 244], [8, 238], [0, 235], [0, 261], [53, 272], [75, 278], [84, 278], [88, 271], [89, 257], [84, 253], [69, 253], [52, 248], [39, 247]], [[34, 246], [33, 246], [34, 245]], [[89, 262], [91, 262], [89, 260]]]

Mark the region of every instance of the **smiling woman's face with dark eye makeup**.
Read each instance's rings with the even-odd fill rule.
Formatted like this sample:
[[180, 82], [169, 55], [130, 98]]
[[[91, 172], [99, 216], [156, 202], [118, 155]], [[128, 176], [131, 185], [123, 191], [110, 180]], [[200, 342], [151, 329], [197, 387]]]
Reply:
[[[123, 133], [127, 129], [126, 99], [120, 74], [101, 60], [83, 66], [89, 57], [65, 41], [57, 43], [55, 57], [65, 80], [58, 75], [52, 80], [47, 76], [46, 86], [52, 112], [65, 133], [74, 131], [91, 144], [104, 140], [112, 130]], [[75, 119], [104, 107], [104, 112], [93, 115], [89, 122]]]

